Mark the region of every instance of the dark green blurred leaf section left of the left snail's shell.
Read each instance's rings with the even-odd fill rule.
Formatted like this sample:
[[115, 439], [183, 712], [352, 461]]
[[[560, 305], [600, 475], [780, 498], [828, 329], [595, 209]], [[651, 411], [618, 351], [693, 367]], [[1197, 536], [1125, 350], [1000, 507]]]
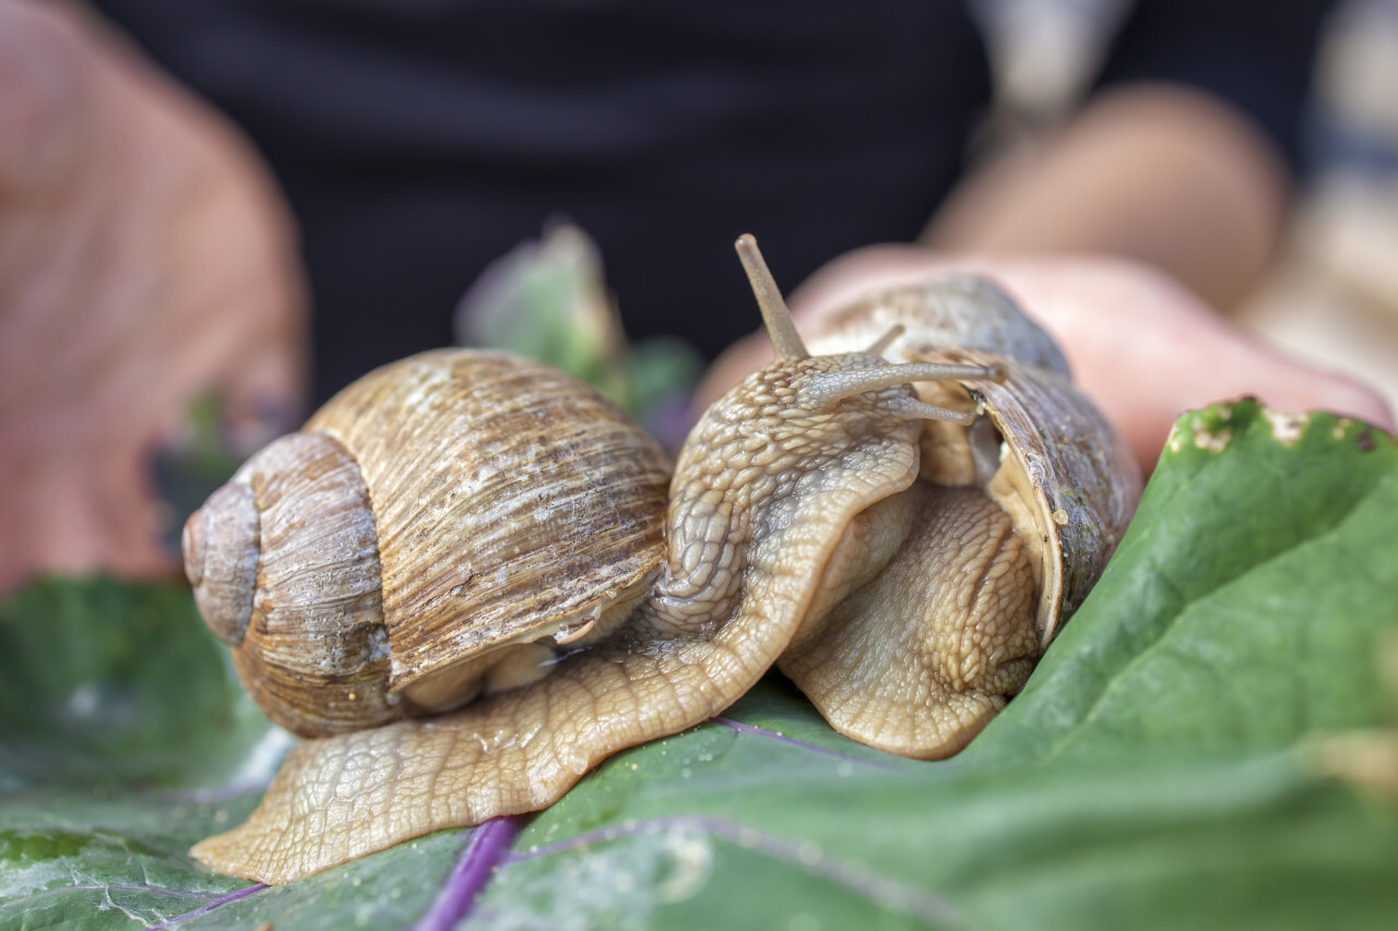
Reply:
[[183, 587], [38, 582], [0, 605], [0, 786], [260, 780], [240, 765], [285, 744]]

